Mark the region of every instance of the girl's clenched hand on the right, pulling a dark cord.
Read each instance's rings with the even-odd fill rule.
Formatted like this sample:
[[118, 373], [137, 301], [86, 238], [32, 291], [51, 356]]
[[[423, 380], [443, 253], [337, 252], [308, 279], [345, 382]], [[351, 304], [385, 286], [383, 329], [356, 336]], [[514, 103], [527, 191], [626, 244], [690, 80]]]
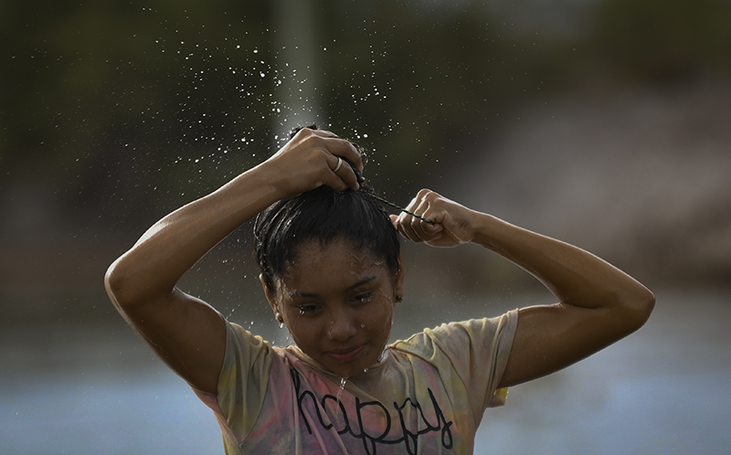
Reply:
[[407, 209], [434, 223], [431, 225], [406, 212], [391, 215], [398, 232], [413, 242], [450, 248], [470, 242], [474, 238], [477, 212], [429, 189], [419, 191]]

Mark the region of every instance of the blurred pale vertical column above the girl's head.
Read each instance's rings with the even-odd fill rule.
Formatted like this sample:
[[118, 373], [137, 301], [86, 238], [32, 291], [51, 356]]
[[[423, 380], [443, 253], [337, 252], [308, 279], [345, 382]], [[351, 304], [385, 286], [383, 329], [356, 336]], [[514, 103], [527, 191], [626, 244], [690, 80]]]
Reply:
[[317, 0], [274, 0], [273, 55], [276, 65], [272, 132], [298, 125], [324, 123], [320, 109], [317, 62]]

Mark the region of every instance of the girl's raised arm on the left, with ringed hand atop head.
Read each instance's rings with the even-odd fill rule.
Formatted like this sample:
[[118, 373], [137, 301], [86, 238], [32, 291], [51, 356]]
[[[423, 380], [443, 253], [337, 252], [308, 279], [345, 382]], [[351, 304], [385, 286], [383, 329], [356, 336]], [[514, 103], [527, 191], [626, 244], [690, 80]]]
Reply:
[[351, 143], [303, 129], [266, 162], [155, 223], [107, 270], [111, 302], [191, 386], [216, 394], [224, 324], [210, 305], [175, 284], [209, 249], [277, 200], [320, 185], [357, 188], [349, 166], [334, 172], [339, 157], [362, 169]]

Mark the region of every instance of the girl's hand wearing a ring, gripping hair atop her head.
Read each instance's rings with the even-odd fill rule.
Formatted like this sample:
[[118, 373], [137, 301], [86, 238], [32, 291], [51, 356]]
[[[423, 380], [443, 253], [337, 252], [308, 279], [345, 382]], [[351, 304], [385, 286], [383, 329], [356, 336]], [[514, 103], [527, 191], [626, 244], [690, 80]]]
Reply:
[[343, 163], [337, 172], [339, 159], [363, 170], [361, 155], [355, 146], [332, 132], [302, 128], [291, 140], [260, 164], [260, 171], [269, 175], [268, 181], [281, 191], [283, 199], [299, 196], [321, 185], [335, 190], [358, 189], [353, 169]]

